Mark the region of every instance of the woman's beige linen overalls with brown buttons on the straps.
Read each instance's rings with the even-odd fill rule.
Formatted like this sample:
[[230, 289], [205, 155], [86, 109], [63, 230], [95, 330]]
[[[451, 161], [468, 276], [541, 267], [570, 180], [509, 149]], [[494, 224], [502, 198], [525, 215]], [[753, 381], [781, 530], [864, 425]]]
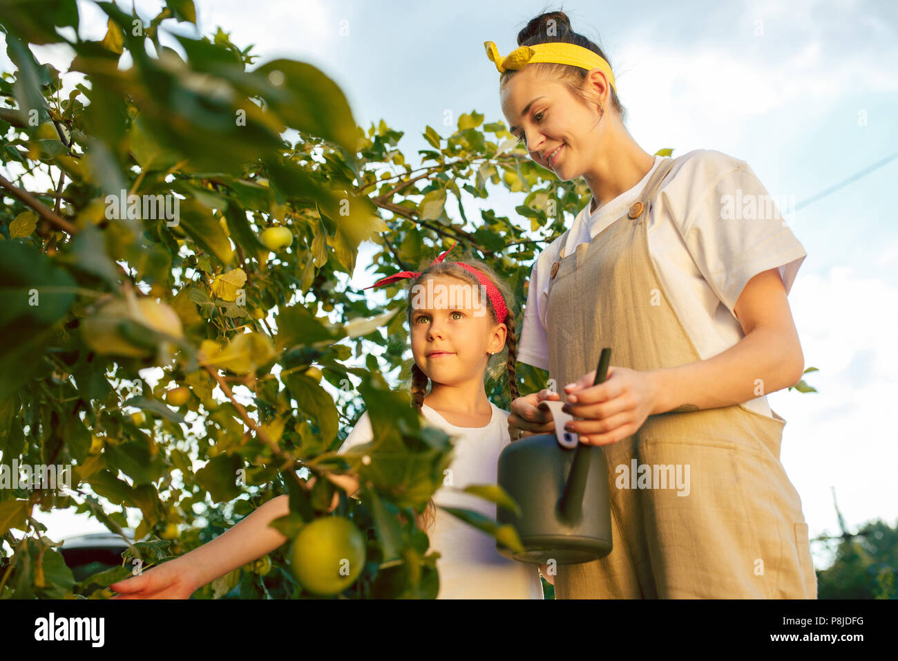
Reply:
[[[568, 232], [561, 239], [547, 326], [549, 375], [565, 401], [565, 384], [593, 371], [604, 346], [612, 365], [631, 370], [701, 360], [648, 253], [648, 211], [673, 164], [665, 158], [629, 212], [574, 254], [564, 255]], [[742, 404], [650, 415], [632, 436], [602, 446], [613, 549], [559, 565], [556, 597], [816, 599], [801, 499], [779, 462], [786, 421], [773, 415]], [[632, 488], [629, 477], [618, 486], [618, 467], [638, 473], [641, 464], [652, 471], [647, 488]], [[678, 464], [681, 478], [689, 468], [688, 495], [661, 480]]]

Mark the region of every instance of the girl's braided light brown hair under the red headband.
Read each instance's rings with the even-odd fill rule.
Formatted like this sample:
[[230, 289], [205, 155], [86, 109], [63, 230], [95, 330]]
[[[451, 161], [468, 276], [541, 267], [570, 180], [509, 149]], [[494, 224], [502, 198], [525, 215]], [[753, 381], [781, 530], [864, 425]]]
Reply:
[[[501, 376], [503, 367], [505, 368], [505, 371], [508, 374], [508, 389], [511, 393], [512, 399], [515, 399], [515, 397], [518, 397], [518, 391], [517, 380], [515, 379], [515, 360], [517, 358], [517, 337], [515, 335], [515, 329], [517, 327], [517, 317], [515, 315], [514, 293], [507, 285], [507, 283], [497, 276], [496, 272], [493, 271], [493, 269], [491, 269], [487, 264], [484, 264], [480, 260], [462, 256], [453, 259], [453, 262], [463, 262], [464, 264], [473, 266], [474, 268], [482, 272], [489, 278], [490, 281], [492, 281], [494, 285], [496, 285], [496, 289], [505, 300], [507, 310], [506, 318], [503, 320], [503, 323], [507, 328], [505, 349], [502, 352], [495, 353], [490, 357], [490, 360], [487, 363], [487, 370], [490, 377], [498, 380], [498, 378]], [[473, 285], [474, 290], [480, 292], [480, 281], [477, 279], [477, 277], [473, 273], [462, 269], [461, 266], [453, 264], [453, 262], [445, 261], [438, 262], [436, 264], [428, 263], [427, 266], [421, 268], [418, 277], [410, 281], [409, 292], [415, 285], [420, 284], [422, 281], [427, 280], [427, 278], [431, 278], [434, 276], [450, 276], [453, 278], [457, 278], [459, 280], [470, 283], [471, 285]], [[492, 301], [489, 300], [489, 297], [484, 297], [484, 299], [485, 300], [480, 302], [486, 304], [493, 323], [498, 323], [496, 309], [493, 307]], [[412, 312], [413, 310], [411, 308], [411, 301], [409, 300], [409, 305], [406, 309], [406, 321], [409, 323], [409, 329], [411, 328]], [[502, 359], [503, 355], [505, 356], [504, 360]], [[491, 369], [489, 363], [493, 363]], [[417, 408], [419, 414], [421, 413], [421, 406], [424, 405], [424, 397], [427, 395], [427, 386], [429, 384], [430, 379], [427, 377], [427, 374], [423, 370], [421, 370], [420, 367], [418, 367], [418, 363], [414, 362], [414, 358], [412, 358], [411, 406]], [[434, 524], [435, 520], [436, 505], [433, 498], [431, 498], [430, 502], [427, 503], [427, 507], [425, 508], [424, 513], [416, 515], [416, 521], [418, 521], [418, 528], [427, 531]]]

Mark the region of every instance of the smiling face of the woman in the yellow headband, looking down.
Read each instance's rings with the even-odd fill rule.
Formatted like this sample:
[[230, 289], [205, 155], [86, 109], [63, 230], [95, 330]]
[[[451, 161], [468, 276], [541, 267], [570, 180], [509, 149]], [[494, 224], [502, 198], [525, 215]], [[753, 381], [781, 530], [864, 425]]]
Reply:
[[[562, 181], [575, 179], [599, 153], [605, 122], [596, 127], [601, 118], [597, 104], [587, 107], [565, 85], [535, 72], [534, 67], [524, 67], [502, 88], [502, 112], [509, 130], [515, 138], [523, 138], [536, 163]], [[595, 86], [595, 93], [607, 90], [603, 75], [597, 71], [586, 79]], [[608, 103], [602, 103], [608, 107]]]

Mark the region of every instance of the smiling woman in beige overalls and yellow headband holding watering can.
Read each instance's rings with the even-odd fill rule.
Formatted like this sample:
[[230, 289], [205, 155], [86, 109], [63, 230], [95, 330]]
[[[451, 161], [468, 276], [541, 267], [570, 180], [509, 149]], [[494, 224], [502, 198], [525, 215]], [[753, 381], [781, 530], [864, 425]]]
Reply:
[[[612, 67], [567, 15], [534, 18], [517, 42], [506, 58], [485, 44], [509, 130], [593, 193], [533, 264], [518, 351], [564, 386], [569, 428], [609, 466], [612, 553], [559, 566], [556, 596], [816, 598], [779, 462], [786, 421], [765, 397], [804, 370], [787, 300], [804, 248], [779, 212], [757, 218], [769, 197], [744, 161], [639, 147]], [[746, 207], [731, 213], [733, 199]], [[613, 364], [592, 386], [604, 346]], [[536, 404], [553, 390], [514, 400], [512, 439], [552, 429]], [[665, 467], [689, 484], [663, 484]]]

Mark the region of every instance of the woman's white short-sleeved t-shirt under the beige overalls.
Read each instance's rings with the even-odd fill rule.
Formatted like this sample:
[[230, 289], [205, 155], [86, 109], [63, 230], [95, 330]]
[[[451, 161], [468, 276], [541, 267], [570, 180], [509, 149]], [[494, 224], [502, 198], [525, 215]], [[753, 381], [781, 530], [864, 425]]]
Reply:
[[[564, 255], [571, 255], [577, 245], [589, 243], [621, 218], [662, 160], [656, 156], [642, 181], [592, 214], [587, 204], [568, 232]], [[776, 211], [764, 218], [768, 204]], [[701, 360], [726, 351], [744, 337], [733, 308], [754, 275], [779, 268], [786, 293], [791, 290], [807, 253], [780, 214], [776, 200], [745, 161], [712, 149], [681, 156], [658, 187], [647, 218], [648, 252]], [[517, 351], [519, 361], [543, 370], [549, 369], [550, 269], [559, 261], [560, 239], [533, 263]], [[589, 301], [585, 299], [584, 305]], [[744, 406], [772, 417], [767, 397], [750, 399]]]

